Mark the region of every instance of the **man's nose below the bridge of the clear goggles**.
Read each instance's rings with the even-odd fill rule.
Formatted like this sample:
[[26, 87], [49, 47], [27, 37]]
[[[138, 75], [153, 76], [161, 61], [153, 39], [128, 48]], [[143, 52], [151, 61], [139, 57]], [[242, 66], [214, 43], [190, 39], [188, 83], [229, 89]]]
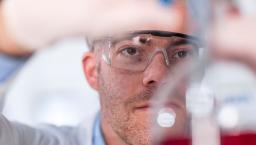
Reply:
[[165, 62], [164, 54], [159, 52], [153, 56], [150, 64], [144, 71], [143, 85], [157, 86], [167, 73], [168, 67]]

